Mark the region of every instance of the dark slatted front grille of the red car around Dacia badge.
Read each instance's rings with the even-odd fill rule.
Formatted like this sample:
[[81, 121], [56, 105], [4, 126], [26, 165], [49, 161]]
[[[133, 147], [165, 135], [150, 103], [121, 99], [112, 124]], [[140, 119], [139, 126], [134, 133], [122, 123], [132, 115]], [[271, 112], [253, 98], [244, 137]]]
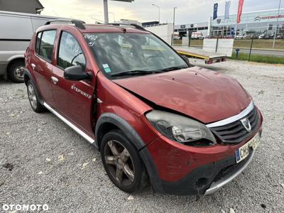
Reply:
[[[251, 131], [247, 131], [241, 123], [241, 119], [248, 118], [251, 123]], [[249, 114], [244, 116], [238, 121], [234, 121], [224, 126], [211, 127], [210, 130], [223, 142], [223, 143], [240, 143], [245, 138], [249, 137], [251, 133], [258, 128], [258, 111], [256, 107], [251, 110]]]

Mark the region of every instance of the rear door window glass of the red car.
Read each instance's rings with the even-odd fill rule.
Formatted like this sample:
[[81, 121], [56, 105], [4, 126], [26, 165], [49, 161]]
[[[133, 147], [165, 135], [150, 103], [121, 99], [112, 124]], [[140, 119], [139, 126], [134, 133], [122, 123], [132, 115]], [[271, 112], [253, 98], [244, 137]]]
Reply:
[[55, 35], [56, 31], [43, 31], [43, 35], [40, 40], [38, 55], [49, 61], [53, 58]]

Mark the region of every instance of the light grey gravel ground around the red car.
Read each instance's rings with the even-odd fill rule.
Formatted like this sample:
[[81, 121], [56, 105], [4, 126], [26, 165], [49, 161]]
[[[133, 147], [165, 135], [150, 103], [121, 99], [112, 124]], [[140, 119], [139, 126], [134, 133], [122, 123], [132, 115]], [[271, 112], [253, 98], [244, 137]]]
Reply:
[[239, 80], [263, 113], [262, 143], [233, 182], [202, 197], [150, 187], [129, 197], [110, 182], [95, 148], [53, 114], [32, 111], [25, 84], [0, 80], [0, 212], [3, 204], [48, 204], [49, 212], [284, 212], [284, 67], [192, 62]]

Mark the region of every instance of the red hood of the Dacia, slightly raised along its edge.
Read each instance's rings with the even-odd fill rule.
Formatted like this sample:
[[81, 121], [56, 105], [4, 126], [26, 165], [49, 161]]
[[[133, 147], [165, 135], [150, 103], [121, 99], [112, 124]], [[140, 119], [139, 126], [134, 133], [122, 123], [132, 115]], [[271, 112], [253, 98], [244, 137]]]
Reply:
[[179, 111], [204, 124], [239, 114], [251, 102], [239, 82], [202, 67], [114, 82], [160, 107]]

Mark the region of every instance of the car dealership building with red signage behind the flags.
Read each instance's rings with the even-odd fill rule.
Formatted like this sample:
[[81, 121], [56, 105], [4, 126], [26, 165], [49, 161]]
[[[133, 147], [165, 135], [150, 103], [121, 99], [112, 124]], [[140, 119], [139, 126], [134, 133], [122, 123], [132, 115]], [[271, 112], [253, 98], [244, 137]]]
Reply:
[[[278, 19], [278, 24], [277, 24]], [[203, 35], [234, 35], [237, 34], [262, 34], [273, 33], [277, 28], [277, 33], [284, 33], [284, 9], [266, 11], [253, 11], [241, 15], [241, 23], [236, 27], [236, 14], [232, 14], [228, 19], [224, 16], [218, 16], [212, 20], [210, 17], [207, 22], [188, 23], [175, 26], [175, 34], [186, 36], [189, 32], [201, 32]]]

